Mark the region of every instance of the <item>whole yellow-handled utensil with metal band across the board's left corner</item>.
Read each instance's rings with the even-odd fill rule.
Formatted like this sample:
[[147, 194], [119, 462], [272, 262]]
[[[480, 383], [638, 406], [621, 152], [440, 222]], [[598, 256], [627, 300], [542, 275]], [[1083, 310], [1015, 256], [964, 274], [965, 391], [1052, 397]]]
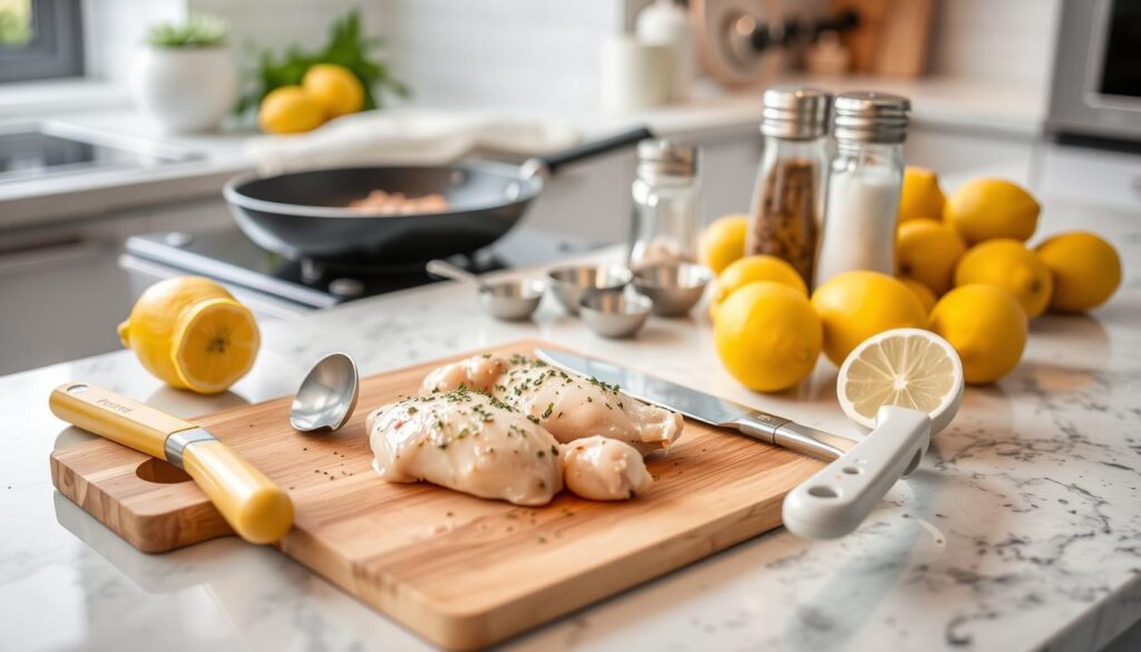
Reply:
[[68, 424], [185, 470], [251, 544], [277, 541], [293, 525], [289, 494], [205, 428], [82, 383], [52, 389], [49, 405]]

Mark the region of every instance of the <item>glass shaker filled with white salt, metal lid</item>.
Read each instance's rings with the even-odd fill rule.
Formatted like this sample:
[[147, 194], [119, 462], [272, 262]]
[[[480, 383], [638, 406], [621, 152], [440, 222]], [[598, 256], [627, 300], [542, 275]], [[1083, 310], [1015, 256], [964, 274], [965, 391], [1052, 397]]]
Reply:
[[896, 273], [896, 212], [904, 183], [906, 97], [844, 92], [833, 104], [836, 158], [828, 179], [816, 284], [853, 269]]

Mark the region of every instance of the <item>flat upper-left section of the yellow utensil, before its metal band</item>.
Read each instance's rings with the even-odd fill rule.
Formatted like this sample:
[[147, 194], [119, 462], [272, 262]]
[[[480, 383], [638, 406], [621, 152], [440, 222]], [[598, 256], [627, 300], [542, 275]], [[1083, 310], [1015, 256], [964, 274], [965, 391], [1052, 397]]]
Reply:
[[95, 385], [66, 383], [51, 391], [51, 412], [129, 449], [167, 459], [167, 437], [195, 426]]

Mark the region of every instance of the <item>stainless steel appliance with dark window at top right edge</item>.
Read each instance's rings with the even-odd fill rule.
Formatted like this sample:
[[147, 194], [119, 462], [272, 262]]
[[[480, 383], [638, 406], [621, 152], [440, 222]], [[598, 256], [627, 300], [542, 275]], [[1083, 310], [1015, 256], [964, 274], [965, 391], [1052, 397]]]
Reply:
[[1047, 129], [1074, 144], [1141, 146], [1141, 2], [1066, 0]]

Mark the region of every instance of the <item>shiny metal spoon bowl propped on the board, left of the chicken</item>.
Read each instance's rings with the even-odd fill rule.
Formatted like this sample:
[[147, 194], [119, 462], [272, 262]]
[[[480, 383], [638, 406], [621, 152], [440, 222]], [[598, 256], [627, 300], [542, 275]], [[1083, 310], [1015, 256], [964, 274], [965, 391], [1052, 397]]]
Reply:
[[289, 424], [301, 433], [337, 430], [353, 416], [359, 394], [356, 363], [343, 353], [331, 353], [301, 381]]

